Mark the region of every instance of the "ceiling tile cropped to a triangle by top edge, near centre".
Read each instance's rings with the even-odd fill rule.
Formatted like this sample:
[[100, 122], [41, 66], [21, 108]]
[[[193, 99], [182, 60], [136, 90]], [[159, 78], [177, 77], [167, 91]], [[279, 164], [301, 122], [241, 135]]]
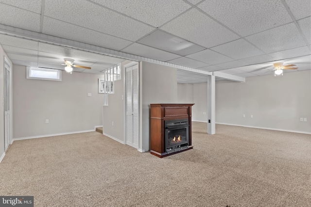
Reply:
[[[190, 8], [181, 0], [92, 0], [142, 22], [159, 27]], [[144, 9], [141, 9], [144, 8]], [[139, 11], [139, 12], [138, 12]]]

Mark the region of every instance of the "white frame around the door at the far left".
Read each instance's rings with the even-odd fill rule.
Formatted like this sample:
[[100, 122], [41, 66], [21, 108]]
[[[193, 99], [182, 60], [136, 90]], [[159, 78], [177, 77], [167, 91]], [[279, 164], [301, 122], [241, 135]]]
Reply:
[[[7, 65], [7, 67], [6, 67], [6, 65]], [[4, 70], [3, 70], [3, 115], [4, 115], [4, 117], [3, 117], [3, 120], [4, 120], [4, 152], [7, 150], [7, 148], [9, 147], [9, 145], [10, 144], [12, 144], [13, 143], [13, 140], [12, 140], [12, 129], [13, 129], [13, 125], [12, 125], [12, 120], [13, 120], [13, 116], [12, 116], [12, 114], [13, 114], [13, 109], [12, 109], [12, 67], [11, 67], [11, 64], [10, 64], [10, 62], [6, 59], [6, 57], [4, 56]], [[6, 69], [7, 68], [7, 69]], [[6, 78], [7, 78], [7, 76], [6, 76], [6, 70], [8, 70], [8, 71], [10, 71], [10, 75], [9, 75], [9, 96], [8, 97], [4, 97], [4, 94], [5, 94], [5, 92], [4, 92], [4, 90], [6, 89], [6, 87], [7, 87], [7, 80], [6, 80]], [[5, 124], [5, 108], [4, 108], [4, 101], [6, 101], [6, 99], [5, 98], [8, 98], [9, 99], [9, 111], [10, 111], [10, 120], [9, 120], [9, 131], [8, 131], [8, 133], [7, 133], [7, 135], [8, 135], [8, 137], [7, 137], [7, 139], [8, 139], [8, 144], [6, 145], [6, 139], [5, 139], [5, 133], [6, 133], [6, 124]]]

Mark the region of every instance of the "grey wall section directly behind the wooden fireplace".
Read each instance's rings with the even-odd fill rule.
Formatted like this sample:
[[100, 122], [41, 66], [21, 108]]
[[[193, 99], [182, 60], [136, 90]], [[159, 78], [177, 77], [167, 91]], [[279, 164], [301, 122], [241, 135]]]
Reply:
[[142, 149], [150, 148], [150, 104], [178, 103], [177, 69], [142, 62]]

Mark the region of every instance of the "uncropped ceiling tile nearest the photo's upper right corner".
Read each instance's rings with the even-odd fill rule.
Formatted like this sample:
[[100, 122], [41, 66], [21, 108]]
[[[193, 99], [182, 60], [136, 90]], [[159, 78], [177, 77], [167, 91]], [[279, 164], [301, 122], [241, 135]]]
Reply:
[[305, 46], [294, 23], [245, 37], [266, 53]]

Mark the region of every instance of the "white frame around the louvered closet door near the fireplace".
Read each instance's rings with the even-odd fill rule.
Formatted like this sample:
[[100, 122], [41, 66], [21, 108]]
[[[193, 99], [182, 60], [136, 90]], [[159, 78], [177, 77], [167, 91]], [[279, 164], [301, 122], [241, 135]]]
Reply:
[[[122, 74], [124, 74], [124, 76], [123, 76], [123, 114], [124, 114], [124, 119], [123, 119], [123, 136], [124, 136], [124, 139], [123, 139], [123, 142], [124, 142], [124, 144], [126, 144], [126, 68], [127, 67], [131, 67], [131, 66], [133, 66], [133, 65], [138, 65], [138, 90], [139, 90], [139, 62], [136, 62], [136, 61], [132, 61], [132, 62], [130, 62], [130, 63], [128, 63], [128, 64], [124, 64], [123, 65], [123, 68], [124, 68], [124, 71], [122, 72]], [[138, 92], [138, 97], [140, 96], [140, 94], [139, 94], [139, 92]], [[139, 98], [138, 98], [138, 100], [139, 100]], [[139, 101], [138, 101], [139, 102]], [[140, 108], [140, 104], [138, 103], [138, 123], [140, 123], [140, 110], [139, 110], [139, 108]], [[140, 125], [139, 125], [139, 128], [140, 128]], [[138, 129], [138, 134], [139, 134], [139, 129]], [[139, 137], [138, 137], [138, 148], [137, 148], [137, 150], [139, 151], [139, 141], [140, 139], [139, 139]]]

